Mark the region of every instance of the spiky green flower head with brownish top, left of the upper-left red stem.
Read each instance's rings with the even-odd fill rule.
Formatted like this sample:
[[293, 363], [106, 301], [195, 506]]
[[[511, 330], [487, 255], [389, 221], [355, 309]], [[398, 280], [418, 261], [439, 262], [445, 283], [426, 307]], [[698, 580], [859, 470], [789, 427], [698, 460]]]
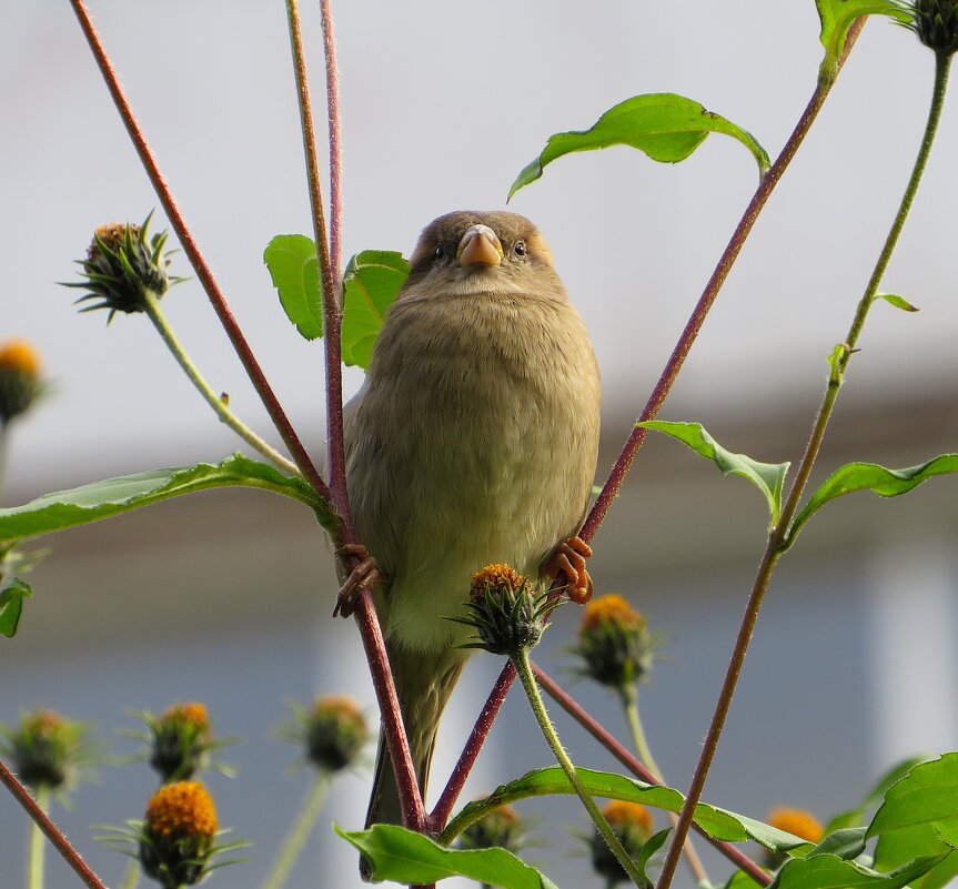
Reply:
[[111, 223], [97, 229], [87, 259], [78, 260], [84, 280], [65, 284], [87, 291], [77, 302], [92, 302], [81, 312], [108, 309], [108, 321], [117, 312], [144, 312], [148, 293], [159, 300], [170, 285], [185, 280], [168, 275], [170, 254], [163, 251], [168, 234], [149, 238], [150, 216], [142, 225]]

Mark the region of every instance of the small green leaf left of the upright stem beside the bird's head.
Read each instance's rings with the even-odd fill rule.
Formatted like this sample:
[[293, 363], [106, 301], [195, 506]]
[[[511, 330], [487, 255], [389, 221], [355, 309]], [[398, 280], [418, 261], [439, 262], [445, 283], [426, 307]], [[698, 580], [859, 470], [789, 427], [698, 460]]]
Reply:
[[304, 234], [278, 234], [266, 245], [263, 262], [286, 317], [306, 339], [323, 335], [323, 293], [316, 245]]

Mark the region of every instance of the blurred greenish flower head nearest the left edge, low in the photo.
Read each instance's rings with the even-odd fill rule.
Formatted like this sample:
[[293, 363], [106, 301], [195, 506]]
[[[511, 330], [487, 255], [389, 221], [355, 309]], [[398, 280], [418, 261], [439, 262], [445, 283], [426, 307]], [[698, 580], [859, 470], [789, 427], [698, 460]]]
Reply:
[[34, 790], [61, 790], [75, 784], [90, 761], [88, 727], [53, 710], [23, 714], [17, 728], [0, 726], [6, 742], [0, 752], [10, 758], [20, 779]]

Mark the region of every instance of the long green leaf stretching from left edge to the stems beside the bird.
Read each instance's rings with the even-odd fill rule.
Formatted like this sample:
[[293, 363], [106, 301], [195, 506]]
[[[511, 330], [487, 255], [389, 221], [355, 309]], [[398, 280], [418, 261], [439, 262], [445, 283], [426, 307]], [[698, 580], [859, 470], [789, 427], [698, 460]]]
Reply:
[[123, 475], [72, 491], [46, 494], [23, 506], [0, 509], [0, 539], [19, 541], [87, 525], [171, 497], [216, 487], [271, 491], [313, 508], [320, 524], [327, 529], [326, 523], [335, 522], [335, 517], [305, 482], [285, 476], [265, 463], [236, 453], [215, 465], [198, 463], [195, 466]]

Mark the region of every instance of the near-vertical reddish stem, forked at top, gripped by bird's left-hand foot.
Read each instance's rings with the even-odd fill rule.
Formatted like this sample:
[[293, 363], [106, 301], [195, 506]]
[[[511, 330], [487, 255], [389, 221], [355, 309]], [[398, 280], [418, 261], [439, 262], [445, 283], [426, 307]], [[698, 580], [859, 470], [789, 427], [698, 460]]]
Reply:
[[[296, 94], [300, 105], [300, 123], [303, 131], [303, 152], [306, 161], [306, 176], [310, 186], [310, 204], [313, 212], [313, 232], [315, 234], [316, 252], [320, 261], [320, 281], [323, 289], [323, 342], [326, 356], [326, 431], [330, 464], [330, 485], [333, 491], [336, 511], [342, 519], [340, 545], [355, 543], [350, 504], [346, 495], [345, 449], [343, 447], [343, 386], [342, 364], [340, 361], [340, 325], [342, 321], [341, 306], [337, 297], [337, 272], [332, 265], [330, 244], [326, 232], [326, 221], [323, 213], [323, 199], [320, 190], [320, 166], [316, 152], [315, 129], [313, 127], [312, 107], [310, 104], [310, 85], [306, 75], [305, 53], [303, 51], [302, 30], [296, 0], [286, 0], [289, 13], [290, 43], [293, 52], [293, 70], [296, 80]], [[329, 40], [332, 40], [332, 18], [329, 4], [323, 8], [323, 29]], [[334, 64], [335, 57], [327, 49], [327, 90], [335, 91], [335, 77], [330, 78], [329, 67]], [[339, 101], [335, 97], [330, 101], [330, 108], [335, 109]], [[330, 130], [336, 129], [331, 120]], [[339, 163], [336, 160], [335, 163]], [[337, 176], [339, 178], [339, 176]], [[353, 559], [353, 564], [355, 559]], [[350, 569], [352, 565], [347, 564]], [[399, 696], [390, 669], [382, 628], [373, 606], [369, 588], [363, 589], [355, 608], [356, 624], [363, 640], [363, 648], [372, 674], [373, 687], [383, 724], [386, 747], [393, 762], [403, 825], [412, 830], [426, 829], [426, 814], [422, 795], [416, 782], [410, 752], [409, 739], [400, 710]]]

